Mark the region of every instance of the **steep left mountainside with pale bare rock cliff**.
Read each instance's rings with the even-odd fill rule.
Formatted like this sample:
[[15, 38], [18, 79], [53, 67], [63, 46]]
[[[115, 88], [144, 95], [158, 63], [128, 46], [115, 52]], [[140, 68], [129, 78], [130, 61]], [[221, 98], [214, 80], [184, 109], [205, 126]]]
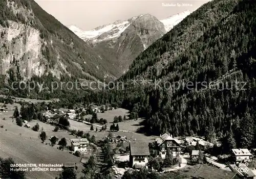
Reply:
[[112, 78], [112, 64], [34, 1], [4, 0], [0, 12], [0, 74], [6, 79]]

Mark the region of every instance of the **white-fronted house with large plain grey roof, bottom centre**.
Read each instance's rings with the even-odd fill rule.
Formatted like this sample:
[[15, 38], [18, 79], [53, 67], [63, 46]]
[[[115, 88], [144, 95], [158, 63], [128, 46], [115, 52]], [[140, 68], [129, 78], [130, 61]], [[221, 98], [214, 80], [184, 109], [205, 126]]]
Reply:
[[130, 166], [135, 168], [147, 168], [147, 158], [150, 149], [147, 142], [130, 142]]

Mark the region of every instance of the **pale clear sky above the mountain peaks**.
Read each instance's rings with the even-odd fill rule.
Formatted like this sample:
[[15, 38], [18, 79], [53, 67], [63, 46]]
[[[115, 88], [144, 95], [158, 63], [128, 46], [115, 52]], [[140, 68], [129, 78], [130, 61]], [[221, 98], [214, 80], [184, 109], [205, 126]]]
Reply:
[[35, 0], [49, 14], [66, 26], [75, 24], [91, 30], [116, 20], [125, 20], [139, 14], [151, 14], [158, 19], [189, 10], [194, 11], [209, 0], [201, 1], [123, 1], [123, 0]]

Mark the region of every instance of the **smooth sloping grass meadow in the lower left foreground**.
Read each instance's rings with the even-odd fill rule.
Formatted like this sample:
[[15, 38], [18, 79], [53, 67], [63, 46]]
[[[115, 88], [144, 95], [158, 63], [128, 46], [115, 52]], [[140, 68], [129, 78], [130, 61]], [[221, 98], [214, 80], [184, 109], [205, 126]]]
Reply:
[[[16, 163], [79, 163], [80, 158], [67, 151], [42, 144], [38, 138], [39, 132], [20, 127], [9, 119], [0, 119], [0, 124], [4, 125], [4, 128], [0, 129], [0, 157], [12, 157]], [[49, 140], [45, 143], [49, 143]], [[28, 171], [26, 174], [28, 178], [55, 178], [57, 175], [58, 172], [55, 171]]]

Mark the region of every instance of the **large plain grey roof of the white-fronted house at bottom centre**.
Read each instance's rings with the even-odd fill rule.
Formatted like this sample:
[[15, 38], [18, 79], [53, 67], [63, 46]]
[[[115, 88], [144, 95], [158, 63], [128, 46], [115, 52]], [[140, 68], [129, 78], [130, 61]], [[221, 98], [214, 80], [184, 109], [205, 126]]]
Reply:
[[148, 142], [130, 142], [130, 151], [132, 156], [149, 156], [150, 148]]

